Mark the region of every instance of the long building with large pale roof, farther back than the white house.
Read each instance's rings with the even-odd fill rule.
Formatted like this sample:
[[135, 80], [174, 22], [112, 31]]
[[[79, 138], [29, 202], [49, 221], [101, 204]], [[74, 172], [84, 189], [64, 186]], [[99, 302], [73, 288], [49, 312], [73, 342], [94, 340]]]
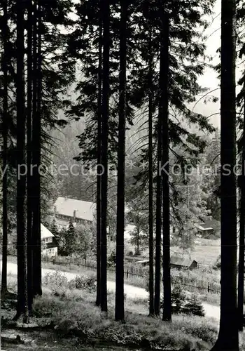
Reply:
[[92, 223], [94, 203], [67, 197], [58, 197], [55, 201], [54, 212], [59, 227], [67, 227], [69, 223]]

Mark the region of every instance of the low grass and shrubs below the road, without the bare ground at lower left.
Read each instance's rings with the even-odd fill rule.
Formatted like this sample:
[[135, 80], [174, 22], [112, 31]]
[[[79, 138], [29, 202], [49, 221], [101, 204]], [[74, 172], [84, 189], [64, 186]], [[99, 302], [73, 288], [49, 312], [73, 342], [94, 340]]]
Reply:
[[[74, 289], [75, 281], [82, 282], [83, 290]], [[193, 347], [195, 350], [207, 350], [216, 339], [217, 326], [213, 322], [207, 324], [207, 320], [202, 317], [179, 313], [174, 315], [172, 324], [167, 324], [160, 319], [139, 314], [139, 311], [147, 311], [147, 300], [144, 299], [127, 299], [130, 307], [125, 317], [127, 323], [116, 323], [111, 313], [114, 294], [109, 294], [109, 313], [106, 316], [94, 306], [91, 282], [91, 279], [84, 277], [66, 282], [62, 274], [49, 274], [45, 284], [52, 290], [52, 295], [36, 298], [34, 315], [40, 318], [51, 312], [55, 329], [59, 333], [63, 336], [80, 336], [87, 342], [99, 339], [113, 345], [141, 346], [148, 350], [158, 347], [169, 347], [170, 350], [171, 347], [173, 350], [184, 350], [184, 347], [188, 347], [185, 350], [192, 350]], [[62, 293], [60, 286], [64, 288]]]

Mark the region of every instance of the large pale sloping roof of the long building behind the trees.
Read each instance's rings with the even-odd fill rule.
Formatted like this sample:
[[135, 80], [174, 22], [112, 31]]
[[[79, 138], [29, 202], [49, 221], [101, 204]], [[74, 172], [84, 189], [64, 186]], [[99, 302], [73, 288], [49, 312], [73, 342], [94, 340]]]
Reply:
[[76, 218], [91, 222], [93, 220], [93, 202], [58, 197], [54, 206], [59, 215], [73, 218], [73, 213], [76, 211]]

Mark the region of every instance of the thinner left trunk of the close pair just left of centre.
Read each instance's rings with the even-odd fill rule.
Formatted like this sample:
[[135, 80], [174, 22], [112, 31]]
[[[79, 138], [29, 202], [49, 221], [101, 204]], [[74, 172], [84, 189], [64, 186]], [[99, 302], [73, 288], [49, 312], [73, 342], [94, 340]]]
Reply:
[[102, 0], [99, 1], [99, 67], [98, 67], [98, 116], [97, 116], [97, 298], [100, 305], [101, 289], [101, 238], [102, 238]]

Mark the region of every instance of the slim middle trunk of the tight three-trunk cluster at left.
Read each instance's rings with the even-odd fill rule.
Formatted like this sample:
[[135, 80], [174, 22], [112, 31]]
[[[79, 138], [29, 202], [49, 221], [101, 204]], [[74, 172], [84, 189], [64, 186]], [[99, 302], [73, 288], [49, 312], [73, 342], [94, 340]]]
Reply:
[[28, 304], [31, 312], [33, 301], [33, 244], [32, 244], [32, 1], [28, 2], [28, 19], [27, 19], [27, 284], [28, 284]]

